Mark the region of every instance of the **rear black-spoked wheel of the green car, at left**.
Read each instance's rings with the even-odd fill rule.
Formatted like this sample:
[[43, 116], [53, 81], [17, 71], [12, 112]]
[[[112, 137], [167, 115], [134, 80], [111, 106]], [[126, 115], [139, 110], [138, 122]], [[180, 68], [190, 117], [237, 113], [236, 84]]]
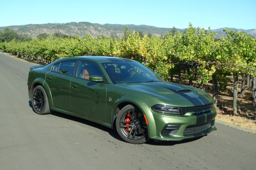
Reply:
[[51, 113], [46, 92], [42, 86], [36, 86], [32, 93], [33, 110], [39, 115]]

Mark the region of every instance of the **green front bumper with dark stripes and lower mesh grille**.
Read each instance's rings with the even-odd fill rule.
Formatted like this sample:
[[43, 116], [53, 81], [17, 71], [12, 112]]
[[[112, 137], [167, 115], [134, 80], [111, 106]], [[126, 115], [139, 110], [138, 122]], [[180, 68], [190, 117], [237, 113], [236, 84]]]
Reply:
[[185, 115], [161, 114], [148, 109], [148, 137], [155, 140], [180, 141], [204, 136], [216, 130], [216, 110], [202, 113], [188, 112]]

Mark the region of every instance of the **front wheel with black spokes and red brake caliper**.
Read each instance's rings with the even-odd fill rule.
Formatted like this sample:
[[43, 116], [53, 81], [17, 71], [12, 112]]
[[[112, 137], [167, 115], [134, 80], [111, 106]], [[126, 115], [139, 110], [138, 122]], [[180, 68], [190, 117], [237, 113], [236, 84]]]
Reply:
[[148, 141], [148, 128], [140, 109], [127, 105], [116, 117], [116, 130], [119, 136], [128, 143], [142, 144]]

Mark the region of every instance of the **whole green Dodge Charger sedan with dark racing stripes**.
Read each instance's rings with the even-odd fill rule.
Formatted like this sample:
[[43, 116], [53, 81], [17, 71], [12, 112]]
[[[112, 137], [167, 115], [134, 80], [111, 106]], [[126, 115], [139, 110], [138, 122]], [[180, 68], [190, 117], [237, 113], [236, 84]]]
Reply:
[[30, 67], [28, 96], [37, 114], [81, 117], [116, 130], [132, 144], [178, 141], [216, 130], [208, 93], [166, 82], [123, 58], [70, 57]]

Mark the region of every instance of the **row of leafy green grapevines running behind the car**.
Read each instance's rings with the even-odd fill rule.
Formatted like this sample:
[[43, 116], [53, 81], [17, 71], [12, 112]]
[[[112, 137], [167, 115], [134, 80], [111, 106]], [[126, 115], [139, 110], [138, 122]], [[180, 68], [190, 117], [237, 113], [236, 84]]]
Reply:
[[[65, 57], [98, 55], [137, 60], [167, 81], [177, 78], [179, 83], [188, 80], [199, 85], [212, 83], [214, 105], [219, 91], [233, 81], [233, 115], [237, 115], [238, 76], [242, 76], [241, 96], [245, 78], [252, 80], [252, 98], [256, 109], [256, 38], [245, 32], [223, 30], [226, 38], [214, 40], [210, 28], [196, 28], [189, 24], [182, 34], [173, 28], [166, 36], [152, 36], [141, 32], [130, 33], [128, 28], [121, 39], [99, 36], [54, 37], [53, 34], [30, 41], [5, 41], [0, 49], [27, 59], [50, 63]], [[233, 76], [233, 80], [230, 79]], [[247, 86], [249, 87], [249, 82]]]

